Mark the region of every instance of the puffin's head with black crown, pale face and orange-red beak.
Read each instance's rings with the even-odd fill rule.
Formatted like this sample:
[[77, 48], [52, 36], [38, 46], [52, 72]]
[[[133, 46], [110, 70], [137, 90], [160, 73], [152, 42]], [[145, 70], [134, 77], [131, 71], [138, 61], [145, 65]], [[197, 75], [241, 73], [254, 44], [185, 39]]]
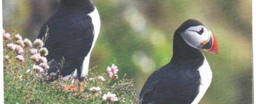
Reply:
[[189, 19], [177, 29], [184, 41], [191, 47], [218, 53], [218, 44], [213, 33], [200, 21]]

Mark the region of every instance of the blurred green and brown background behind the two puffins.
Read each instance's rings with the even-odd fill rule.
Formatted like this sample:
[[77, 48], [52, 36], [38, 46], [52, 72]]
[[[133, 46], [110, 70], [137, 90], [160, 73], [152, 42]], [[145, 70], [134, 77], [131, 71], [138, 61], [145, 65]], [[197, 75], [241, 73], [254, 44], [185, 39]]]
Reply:
[[[252, 103], [252, 1], [94, 0], [101, 31], [90, 67], [104, 72], [111, 63], [127, 73], [139, 91], [149, 75], [172, 57], [173, 34], [197, 19], [215, 34], [219, 54], [204, 52], [213, 80], [200, 103]], [[35, 40], [59, 0], [3, 0], [3, 25]]]

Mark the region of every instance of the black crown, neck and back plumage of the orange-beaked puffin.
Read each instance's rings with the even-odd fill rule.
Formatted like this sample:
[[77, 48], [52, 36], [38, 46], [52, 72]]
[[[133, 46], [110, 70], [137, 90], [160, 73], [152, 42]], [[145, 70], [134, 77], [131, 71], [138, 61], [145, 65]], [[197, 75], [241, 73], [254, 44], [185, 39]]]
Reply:
[[180, 32], [190, 26], [203, 25], [197, 20], [185, 21], [173, 36], [173, 56], [167, 65], [150, 75], [140, 92], [140, 103], [192, 103], [199, 93], [200, 74], [204, 56], [190, 47]]

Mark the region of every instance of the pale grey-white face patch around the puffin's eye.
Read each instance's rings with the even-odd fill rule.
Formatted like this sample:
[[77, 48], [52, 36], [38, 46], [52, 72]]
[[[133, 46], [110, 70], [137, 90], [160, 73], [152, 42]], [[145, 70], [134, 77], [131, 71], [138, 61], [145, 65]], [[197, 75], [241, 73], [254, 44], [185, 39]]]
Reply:
[[191, 47], [197, 48], [201, 43], [209, 41], [211, 32], [207, 27], [199, 25], [189, 27], [187, 30], [181, 32], [181, 36]]

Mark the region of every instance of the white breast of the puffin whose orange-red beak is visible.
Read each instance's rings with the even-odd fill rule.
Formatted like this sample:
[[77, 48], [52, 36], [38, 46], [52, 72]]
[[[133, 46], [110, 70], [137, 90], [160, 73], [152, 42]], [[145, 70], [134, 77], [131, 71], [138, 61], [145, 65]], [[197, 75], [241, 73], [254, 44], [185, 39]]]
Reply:
[[195, 97], [195, 100], [192, 102], [192, 104], [197, 104], [201, 100], [206, 90], [210, 86], [211, 78], [213, 77], [213, 73], [211, 72], [211, 68], [205, 57], [204, 57], [204, 63], [201, 67], [199, 67], [198, 71], [201, 77], [201, 84], [199, 86], [199, 93], [197, 97]]

